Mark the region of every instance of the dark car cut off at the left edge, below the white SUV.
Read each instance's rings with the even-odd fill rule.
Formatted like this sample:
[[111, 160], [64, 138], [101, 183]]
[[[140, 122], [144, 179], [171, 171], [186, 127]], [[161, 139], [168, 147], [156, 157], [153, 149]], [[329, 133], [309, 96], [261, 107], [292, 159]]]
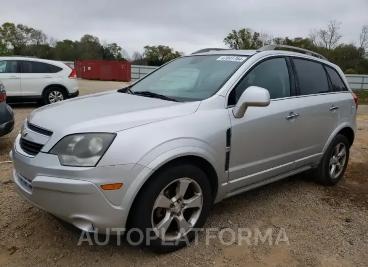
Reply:
[[7, 135], [14, 128], [14, 113], [7, 104], [7, 93], [0, 81], [0, 137]]

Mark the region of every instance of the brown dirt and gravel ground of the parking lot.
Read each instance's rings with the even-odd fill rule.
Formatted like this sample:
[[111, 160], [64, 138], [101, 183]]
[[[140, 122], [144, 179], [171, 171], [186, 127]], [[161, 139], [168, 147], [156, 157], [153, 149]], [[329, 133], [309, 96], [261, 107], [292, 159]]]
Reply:
[[[124, 83], [79, 81], [81, 94], [117, 89]], [[0, 161], [21, 123], [36, 105], [13, 105], [16, 127], [0, 139]], [[0, 164], [0, 266], [368, 266], [368, 115], [358, 115], [358, 130], [344, 179], [334, 187], [298, 175], [214, 206], [206, 228], [272, 229], [272, 242], [229, 245], [217, 235], [206, 244], [156, 255], [110, 240], [78, 245], [79, 237], [49, 214], [28, 205], [15, 191], [12, 164]], [[52, 201], [52, 199], [50, 199]], [[275, 245], [284, 229], [287, 242]], [[229, 241], [229, 232], [223, 240]], [[285, 237], [285, 235], [283, 236]]]

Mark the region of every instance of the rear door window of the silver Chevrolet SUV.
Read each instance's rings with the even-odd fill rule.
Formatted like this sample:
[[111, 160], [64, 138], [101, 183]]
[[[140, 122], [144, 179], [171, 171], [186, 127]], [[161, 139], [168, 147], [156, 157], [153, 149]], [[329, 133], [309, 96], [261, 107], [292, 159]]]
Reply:
[[294, 58], [295, 71], [299, 80], [300, 95], [330, 92], [327, 75], [321, 63]]

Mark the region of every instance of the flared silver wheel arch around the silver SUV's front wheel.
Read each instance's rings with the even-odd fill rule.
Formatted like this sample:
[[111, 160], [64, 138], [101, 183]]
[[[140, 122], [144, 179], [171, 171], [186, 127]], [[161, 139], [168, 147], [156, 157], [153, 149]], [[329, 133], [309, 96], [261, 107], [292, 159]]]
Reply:
[[[145, 182], [149, 179], [149, 177], [161, 166], [163, 166], [165, 163], [179, 158], [183, 156], [198, 156], [205, 160], [207, 160], [209, 163], [212, 164], [213, 168], [216, 171], [217, 177], [219, 179], [223, 178], [224, 175], [227, 175], [226, 173], [221, 173], [220, 167], [218, 166], [215, 158], [211, 153], [209, 153], [207, 150], [204, 150], [199, 147], [192, 147], [192, 146], [185, 146], [185, 147], [178, 147], [171, 149], [169, 151], [166, 151], [156, 157], [154, 160], [152, 160], [141, 172], [135, 180], [132, 182], [132, 184], [129, 186], [128, 191], [124, 195], [124, 198], [122, 199], [120, 207], [127, 212], [125, 214], [126, 218], [124, 218], [124, 221], [128, 219], [129, 211], [132, 207], [133, 201], [136, 198], [139, 190], [142, 188], [142, 186], [145, 184]], [[227, 176], [226, 176], [227, 179]], [[219, 181], [219, 185], [221, 182]], [[123, 226], [125, 227], [125, 226]]]

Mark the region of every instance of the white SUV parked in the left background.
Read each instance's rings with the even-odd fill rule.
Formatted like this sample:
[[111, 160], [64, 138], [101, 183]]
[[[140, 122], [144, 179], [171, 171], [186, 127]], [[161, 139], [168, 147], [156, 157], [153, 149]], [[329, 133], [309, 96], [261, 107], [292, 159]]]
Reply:
[[50, 104], [79, 95], [76, 72], [66, 63], [31, 57], [0, 57], [8, 102]]

